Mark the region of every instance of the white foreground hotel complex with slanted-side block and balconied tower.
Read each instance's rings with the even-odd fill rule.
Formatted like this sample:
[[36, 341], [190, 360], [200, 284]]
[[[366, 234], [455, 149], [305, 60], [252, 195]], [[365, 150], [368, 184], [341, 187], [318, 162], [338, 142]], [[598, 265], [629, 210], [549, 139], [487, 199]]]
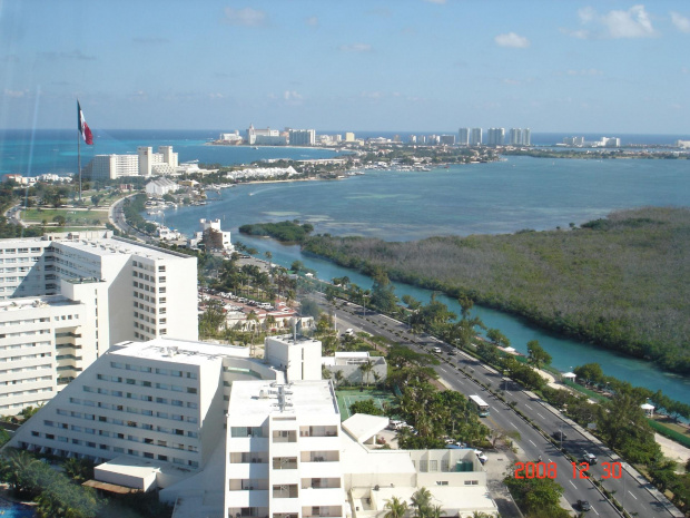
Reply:
[[160, 489], [176, 518], [383, 518], [420, 487], [443, 516], [497, 514], [473, 450], [376, 450], [387, 418], [341, 423], [316, 344], [274, 338], [267, 361], [191, 341], [118, 344], [8, 446], [89, 458], [88, 485]]

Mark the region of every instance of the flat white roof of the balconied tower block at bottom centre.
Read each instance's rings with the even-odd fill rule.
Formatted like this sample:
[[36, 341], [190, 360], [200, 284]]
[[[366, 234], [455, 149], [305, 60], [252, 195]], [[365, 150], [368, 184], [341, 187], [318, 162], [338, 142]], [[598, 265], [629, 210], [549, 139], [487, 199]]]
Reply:
[[339, 420], [335, 393], [328, 381], [295, 381], [287, 384], [270, 381], [233, 383], [228, 405], [230, 416], [265, 416], [282, 412], [321, 417], [332, 414]]

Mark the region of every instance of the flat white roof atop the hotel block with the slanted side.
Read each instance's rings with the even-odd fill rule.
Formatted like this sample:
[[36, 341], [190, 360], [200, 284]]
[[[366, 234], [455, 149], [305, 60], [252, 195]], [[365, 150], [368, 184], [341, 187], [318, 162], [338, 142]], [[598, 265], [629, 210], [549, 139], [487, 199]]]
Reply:
[[116, 344], [110, 349], [109, 354], [200, 365], [208, 361], [223, 360], [224, 358], [249, 358], [249, 349], [236, 345], [215, 345], [213, 343], [157, 338], [148, 342]]

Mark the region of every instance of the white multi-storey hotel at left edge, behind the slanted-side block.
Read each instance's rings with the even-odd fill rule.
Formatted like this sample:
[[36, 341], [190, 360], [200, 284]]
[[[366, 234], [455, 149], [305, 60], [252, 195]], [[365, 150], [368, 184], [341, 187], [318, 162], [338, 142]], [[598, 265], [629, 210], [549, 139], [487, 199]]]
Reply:
[[1, 240], [0, 413], [50, 400], [112, 343], [197, 340], [196, 289], [196, 257], [109, 232]]

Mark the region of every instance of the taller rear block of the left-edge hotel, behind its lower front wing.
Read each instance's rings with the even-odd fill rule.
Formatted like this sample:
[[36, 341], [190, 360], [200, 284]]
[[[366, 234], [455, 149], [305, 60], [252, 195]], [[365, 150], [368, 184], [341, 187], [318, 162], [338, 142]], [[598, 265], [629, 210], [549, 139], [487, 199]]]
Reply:
[[99, 328], [109, 331], [99, 335], [108, 336], [101, 346], [167, 334], [197, 340], [196, 257], [111, 235], [0, 240], [0, 300], [62, 294], [79, 301], [102, 290], [98, 314], [107, 322]]

